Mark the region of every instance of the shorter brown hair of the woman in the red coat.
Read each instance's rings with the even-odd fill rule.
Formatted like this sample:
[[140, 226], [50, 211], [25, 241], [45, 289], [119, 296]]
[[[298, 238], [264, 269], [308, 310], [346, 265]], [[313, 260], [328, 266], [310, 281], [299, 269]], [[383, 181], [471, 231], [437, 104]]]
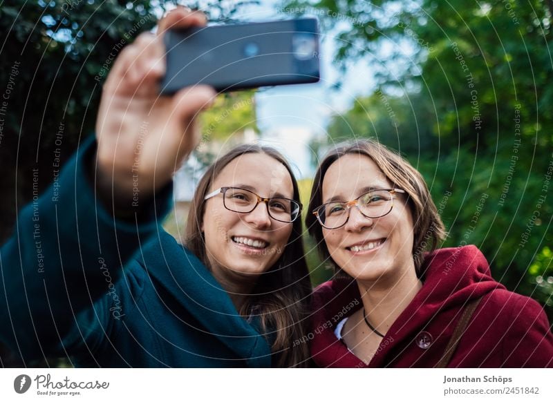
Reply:
[[438, 246], [438, 242], [445, 238], [444, 224], [422, 175], [401, 155], [394, 153], [375, 140], [358, 140], [338, 146], [332, 149], [319, 164], [315, 179], [313, 179], [306, 226], [311, 236], [317, 241], [321, 255], [330, 260], [335, 265], [336, 271], [341, 273], [341, 270], [328, 253], [324, 242], [323, 229], [311, 211], [323, 203], [323, 180], [326, 171], [328, 171], [331, 164], [347, 154], [370, 157], [394, 186], [406, 191], [407, 204], [411, 209], [414, 222], [413, 260], [415, 261], [417, 275], [422, 276], [420, 269], [424, 260], [424, 253], [425, 251], [434, 250]]

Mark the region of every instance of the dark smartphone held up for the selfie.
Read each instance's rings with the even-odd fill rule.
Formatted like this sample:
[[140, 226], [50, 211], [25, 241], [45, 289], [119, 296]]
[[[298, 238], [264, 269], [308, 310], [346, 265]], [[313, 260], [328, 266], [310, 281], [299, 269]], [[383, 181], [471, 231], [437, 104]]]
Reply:
[[219, 92], [319, 81], [317, 19], [169, 30], [161, 93], [207, 84]]

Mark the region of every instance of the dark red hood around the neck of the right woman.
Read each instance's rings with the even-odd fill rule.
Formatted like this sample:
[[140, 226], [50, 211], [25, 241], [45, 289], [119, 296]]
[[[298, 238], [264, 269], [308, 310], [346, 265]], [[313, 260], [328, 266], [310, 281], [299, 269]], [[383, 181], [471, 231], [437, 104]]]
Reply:
[[[390, 327], [375, 354], [371, 367], [382, 367], [398, 347], [393, 340], [412, 340], [431, 322], [438, 312], [458, 312], [468, 301], [505, 289], [491, 277], [486, 258], [476, 246], [439, 249], [429, 253], [422, 266], [423, 287]], [[355, 280], [332, 280], [315, 290], [315, 336], [311, 351], [317, 365], [322, 367], [353, 367], [363, 363], [348, 353], [346, 345], [334, 335], [335, 325], [362, 307]], [[390, 342], [391, 341], [391, 342]]]

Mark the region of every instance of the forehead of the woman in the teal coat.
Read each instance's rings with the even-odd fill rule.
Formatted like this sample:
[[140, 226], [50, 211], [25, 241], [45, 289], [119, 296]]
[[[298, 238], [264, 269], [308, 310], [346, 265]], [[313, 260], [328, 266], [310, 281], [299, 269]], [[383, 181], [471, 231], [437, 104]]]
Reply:
[[281, 162], [266, 153], [240, 155], [215, 178], [212, 189], [222, 186], [247, 186], [263, 196], [280, 193], [288, 198], [294, 195], [292, 178]]

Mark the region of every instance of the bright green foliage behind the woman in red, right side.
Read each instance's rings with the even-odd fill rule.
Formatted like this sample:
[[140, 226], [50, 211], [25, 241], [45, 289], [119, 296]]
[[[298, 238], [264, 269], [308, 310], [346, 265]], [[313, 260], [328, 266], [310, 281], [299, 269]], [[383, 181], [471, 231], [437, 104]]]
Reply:
[[478, 245], [496, 278], [553, 318], [553, 3], [287, 3], [313, 6], [336, 32], [339, 66], [369, 61], [379, 82], [332, 119], [330, 140], [372, 136], [400, 150], [427, 179], [445, 245]]

